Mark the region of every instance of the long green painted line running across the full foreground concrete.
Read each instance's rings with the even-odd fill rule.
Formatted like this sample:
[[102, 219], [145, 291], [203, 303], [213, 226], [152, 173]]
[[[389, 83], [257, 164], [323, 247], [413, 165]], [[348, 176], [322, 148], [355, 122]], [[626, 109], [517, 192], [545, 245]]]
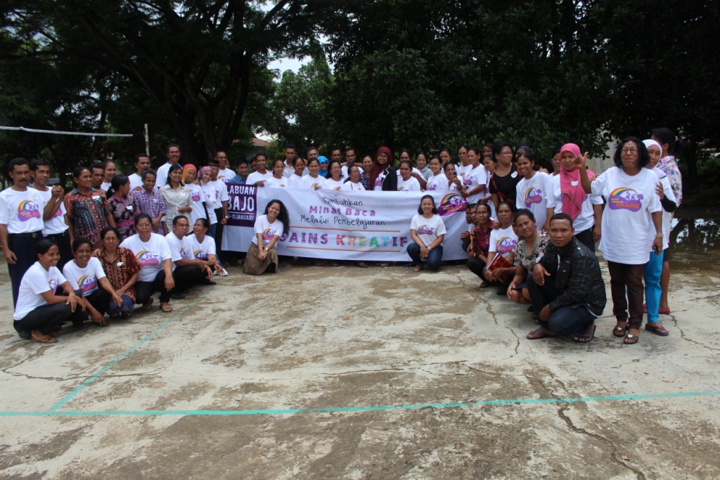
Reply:
[[[189, 305], [190, 307], [192, 305]], [[511, 399], [511, 400], [481, 400], [480, 402], [460, 403], [426, 403], [408, 405], [379, 405], [375, 407], [324, 407], [324, 408], [292, 408], [292, 409], [258, 409], [258, 410], [102, 410], [98, 412], [55, 411], [47, 412], [0, 412], [0, 417], [113, 417], [130, 416], [143, 417], [155, 415], [292, 415], [296, 413], [325, 413], [325, 412], [387, 412], [402, 410], [418, 410], [423, 408], [467, 408], [495, 405], [522, 405], [522, 404], [559, 404], [578, 402], [613, 402], [628, 400], [672, 399], [684, 397], [709, 397], [720, 395], [720, 391], [692, 391], [669, 394], [638, 394], [638, 395], [610, 395], [606, 397], [570, 397], [560, 399]]]

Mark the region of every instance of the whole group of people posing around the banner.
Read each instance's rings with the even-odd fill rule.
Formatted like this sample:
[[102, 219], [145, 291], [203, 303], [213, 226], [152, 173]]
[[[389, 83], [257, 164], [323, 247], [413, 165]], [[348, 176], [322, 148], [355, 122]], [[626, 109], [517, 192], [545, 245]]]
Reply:
[[[50, 185], [46, 163], [15, 159], [8, 166], [13, 186], [0, 194], [0, 241], [12, 279], [15, 327], [23, 338], [51, 343], [63, 322], [81, 325], [91, 315], [107, 325], [104, 313], [129, 317], [136, 303], [150, 308], [156, 291], [161, 309], [171, 311], [171, 296], [195, 283], [213, 283], [214, 273], [227, 274], [220, 248], [227, 184], [252, 184], [455, 191], [467, 201], [470, 227], [459, 239], [446, 238], [433, 196], [423, 196], [410, 220], [407, 252], [415, 271], [439, 268], [443, 243], [462, 242], [481, 288], [498, 286], [510, 301], [531, 305], [528, 311], [540, 326], [530, 339], [593, 339], [594, 319], [606, 303], [594, 253], [599, 242], [611, 277], [613, 335], [637, 343], [644, 311], [645, 329], [668, 335], [658, 320], [669, 312], [667, 240], [672, 211], [682, 199], [672, 155], [681, 147], [667, 129], [655, 130], [648, 140], [628, 137], [616, 150], [616, 168], [597, 176], [587, 168], [587, 153], [572, 143], [554, 153], [552, 171], [535, 165], [528, 145], [507, 142], [462, 146], [459, 164], [446, 149], [430, 157], [418, 152], [414, 163], [402, 151], [397, 169], [386, 147], [356, 162], [354, 148], [334, 148], [329, 159], [311, 148], [302, 158], [287, 145], [284, 158], [271, 165], [259, 153], [249, 163], [239, 160], [235, 171], [224, 152], [209, 166], [181, 166], [179, 147], [170, 145], [168, 161], [157, 171], [144, 154], [136, 157], [130, 176], [118, 175], [112, 160], [78, 167], [68, 194]], [[243, 271], [258, 275], [288, 266], [276, 243], [289, 227], [282, 201], [270, 201], [256, 218]]]

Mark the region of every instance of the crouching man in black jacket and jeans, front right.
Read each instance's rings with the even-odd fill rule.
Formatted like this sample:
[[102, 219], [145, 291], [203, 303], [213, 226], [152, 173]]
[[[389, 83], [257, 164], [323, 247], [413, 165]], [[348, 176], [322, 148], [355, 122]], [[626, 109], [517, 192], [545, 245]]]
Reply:
[[575, 239], [572, 217], [550, 218], [550, 242], [545, 255], [528, 277], [528, 291], [541, 327], [527, 338], [575, 335], [588, 343], [595, 336], [595, 318], [607, 302], [605, 283], [595, 253]]

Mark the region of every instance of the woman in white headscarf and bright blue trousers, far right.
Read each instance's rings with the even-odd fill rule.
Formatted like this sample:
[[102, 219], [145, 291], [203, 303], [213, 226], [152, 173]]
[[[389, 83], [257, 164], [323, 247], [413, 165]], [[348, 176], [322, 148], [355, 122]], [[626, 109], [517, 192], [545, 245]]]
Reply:
[[[657, 195], [660, 196], [660, 206], [662, 207], [662, 255], [655, 255], [650, 251], [649, 261], [645, 264], [645, 312], [647, 312], [647, 324], [645, 330], [653, 332], [661, 337], [670, 335], [667, 328], [660, 325], [660, 298], [662, 297], [662, 287], [660, 286], [660, 276], [662, 276], [662, 263], [667, 251], [668, 238], [670, 237], [670, 222], [672, 221], [672, 212], [678, 205], [675, 203], [675, 194], [670, 186], [670, 178], [660, 169], [660, 155], [662, 155], [662, 147], [655, 140], [643, 140], [647, 154], [650, 157], [649, 163], [645, 166], [657, 175], [660, 185], [657, 186]], [[651, 232], [652, 233], [652, 232]]]

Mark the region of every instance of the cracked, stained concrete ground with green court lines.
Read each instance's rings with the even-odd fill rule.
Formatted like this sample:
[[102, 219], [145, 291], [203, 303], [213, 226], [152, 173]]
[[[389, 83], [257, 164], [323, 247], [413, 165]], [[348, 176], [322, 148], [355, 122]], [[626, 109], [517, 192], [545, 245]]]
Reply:
[[53, 346], [0, 282], [6, 479], [720, 478], [715, 274], [675, 274], [670, 336], [633, 346], [609, 302], [588, 345], [526, 340], [459, 266], [230, 268]]

